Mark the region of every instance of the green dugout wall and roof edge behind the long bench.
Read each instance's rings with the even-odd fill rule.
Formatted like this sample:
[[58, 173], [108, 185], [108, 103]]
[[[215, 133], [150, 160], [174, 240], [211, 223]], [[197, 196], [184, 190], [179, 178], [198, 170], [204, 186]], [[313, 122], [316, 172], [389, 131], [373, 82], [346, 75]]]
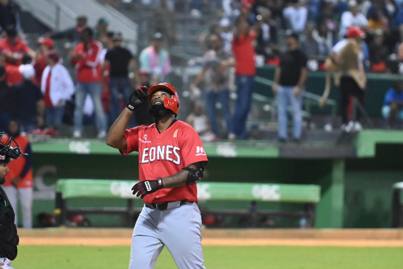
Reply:
[[[206, 143], [210, 162], [205, 181], [320, 185], [317, 228], [388, 228], [392, 184], [403, 180], [403, 132], [365, 130], [353, 140], [347, 145]], [[39, 212], [53, 212], [54, 184], [58, 178], [138, 180], [138, 155], [121, 156], [103, 142], [53, 140], [34, 142], [32, 148], [35, 226]], [[71, 205], [125, 204], [123, 200], [77, 199]], [[242, 209], [248, 205], [246, 201], [201, 204]], [[262, 202], [258, 207], [287, 209], [290, 205]], [[114, 217], [98, 217], [93, 222], [113, 226], [117, 221]]]

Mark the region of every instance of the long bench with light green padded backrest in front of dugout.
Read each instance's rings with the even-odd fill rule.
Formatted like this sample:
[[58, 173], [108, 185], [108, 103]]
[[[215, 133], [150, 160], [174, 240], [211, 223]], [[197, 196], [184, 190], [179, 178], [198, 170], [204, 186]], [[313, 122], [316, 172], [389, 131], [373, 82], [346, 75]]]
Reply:
[[[133, 200], [140, 199], [132, 195], [131, 187], [136, 181], [124, 180], [87, 180], [78, 178], [60, 179], [56, 183], [55, 214], [56, 225], [64, 225], [72, 214], [120, 214], [130, 223], [139, 214], [141, 208], [133, 207]], [[295, 217], [305, 218], [307, 227], [315, 227], [316, 204], [320, 200], [320, 186], [296, 184], [254, 184], [254, 183], [219, 183], [202, 182], [197, 184], [197, 198], [200, 203], [206, 201], [256, 201], [285, 202], [303, 204], [299, 211], [209, 209], [200, 207], [202, 215], [260, 217]], [[127, 199], [124, 207], [69, 207], [70, 198], [116, 198]]]

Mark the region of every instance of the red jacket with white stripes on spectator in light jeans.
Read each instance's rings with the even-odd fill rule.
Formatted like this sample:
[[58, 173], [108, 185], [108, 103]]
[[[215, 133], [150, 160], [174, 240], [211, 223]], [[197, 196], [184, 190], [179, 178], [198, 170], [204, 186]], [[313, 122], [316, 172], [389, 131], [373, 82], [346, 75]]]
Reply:
[[72, 64], [77, 66], [77, 82], [101, 80], [101, 52], [102, 44], [96, 40], [92, 40], [88, 48], [83, 42], [77, 45], [74, 54], [83, 57], [81, 60], [72, 60]]

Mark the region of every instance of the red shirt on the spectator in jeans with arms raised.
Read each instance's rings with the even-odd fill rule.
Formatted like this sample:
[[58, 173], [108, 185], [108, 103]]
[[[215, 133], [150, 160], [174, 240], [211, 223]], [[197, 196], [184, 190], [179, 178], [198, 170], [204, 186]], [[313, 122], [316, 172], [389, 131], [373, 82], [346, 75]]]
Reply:
[[238, 40], [235, 38], [232, 40], [237, 75], [255, 75], [255, 50], [252, 45], [255, 38], [255, 32], [250, 31], [248, 36], [240, 36]]

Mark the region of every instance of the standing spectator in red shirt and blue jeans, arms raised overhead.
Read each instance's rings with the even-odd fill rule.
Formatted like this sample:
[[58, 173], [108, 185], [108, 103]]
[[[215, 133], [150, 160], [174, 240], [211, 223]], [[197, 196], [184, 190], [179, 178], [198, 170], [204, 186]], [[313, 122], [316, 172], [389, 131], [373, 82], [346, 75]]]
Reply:
[[254, 61], [253, 42], [256, 32], [251, 30], [251, 24], [245, 16], [238, 18], [236, 32], [232, 40], [232, 50], [235, 57], [235, 80], [237, 85], [237, 100], [234, 109], [229, 139], [246, 139], [246, 119], [252, 104], [252, 93], [256, 66]]

